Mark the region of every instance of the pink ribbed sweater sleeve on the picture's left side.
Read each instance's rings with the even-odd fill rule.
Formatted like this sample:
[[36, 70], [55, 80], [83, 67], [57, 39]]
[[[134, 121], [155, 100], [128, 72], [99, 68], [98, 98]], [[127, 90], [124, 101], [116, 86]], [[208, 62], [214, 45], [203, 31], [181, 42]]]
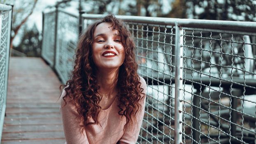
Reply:
[[69, 97], [66, 97], [66, 102], [63, 100], [65, 90], [61, 94], [61, 116], [63, 122], [63, 129], [66, 137], [67, 144], [89, 144], [86, 132], [81, 130], [81, 118], [77, 118], [79, 115], [77, 107]]

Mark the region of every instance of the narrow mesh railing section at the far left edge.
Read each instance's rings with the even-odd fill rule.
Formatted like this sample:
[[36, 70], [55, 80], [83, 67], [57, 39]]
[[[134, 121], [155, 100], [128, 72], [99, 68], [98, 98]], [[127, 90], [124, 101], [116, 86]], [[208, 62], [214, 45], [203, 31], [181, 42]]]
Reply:
[[12, 6], [0, 4], [0, 138], [5, 119]]

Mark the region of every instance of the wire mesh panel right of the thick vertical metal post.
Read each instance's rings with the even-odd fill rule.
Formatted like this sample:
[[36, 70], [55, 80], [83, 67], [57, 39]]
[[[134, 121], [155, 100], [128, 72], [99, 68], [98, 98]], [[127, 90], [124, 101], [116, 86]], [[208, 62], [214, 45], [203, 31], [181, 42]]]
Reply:
[[254, 144], [255, 36], [184, 30], [183, 142]]

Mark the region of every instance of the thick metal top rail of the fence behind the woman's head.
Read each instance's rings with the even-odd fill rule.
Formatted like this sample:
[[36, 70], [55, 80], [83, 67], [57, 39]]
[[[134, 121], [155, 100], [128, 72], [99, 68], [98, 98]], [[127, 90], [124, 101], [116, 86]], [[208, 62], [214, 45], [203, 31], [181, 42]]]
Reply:
[[[102, 14], [82, 14], [83, 19], [101, 19], [105, 15]], [[216, 21], [216, 20], [202, 20], [202, 19], [176, 19], [176, 18], [161, 18], [161, 17], [146, 17], [146, 16], [120, 16], [116, 18], [122, 19], [126, 22], [148, 23], [166, 26], [175, 26], [178, 23], [183, 29], [203, 30], [233, 33], [256, 36], [256, 23], [247, 21]], [[167, 27], [168, 28], [168, 27]]]

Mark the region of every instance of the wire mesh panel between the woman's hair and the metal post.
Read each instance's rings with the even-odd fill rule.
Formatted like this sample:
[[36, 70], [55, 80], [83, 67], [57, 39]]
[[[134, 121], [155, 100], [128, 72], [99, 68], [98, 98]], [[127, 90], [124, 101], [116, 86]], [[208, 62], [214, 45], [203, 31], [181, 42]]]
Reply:
[[138, 73], [147, 81], [147, 100], [138, 142], [174, 142], [173, 27], [127, 23], [137, 46]]

